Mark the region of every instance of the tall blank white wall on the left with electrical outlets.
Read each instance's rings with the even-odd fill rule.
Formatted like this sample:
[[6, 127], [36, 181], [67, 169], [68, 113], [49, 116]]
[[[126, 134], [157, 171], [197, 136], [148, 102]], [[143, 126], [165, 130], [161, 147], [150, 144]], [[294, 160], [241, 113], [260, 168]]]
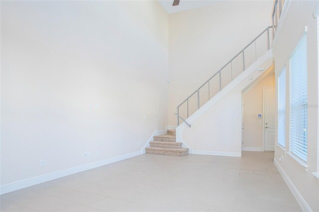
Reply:
[[1, 1], [1, 185], [141, 151], [167, 71], [158, 1]]

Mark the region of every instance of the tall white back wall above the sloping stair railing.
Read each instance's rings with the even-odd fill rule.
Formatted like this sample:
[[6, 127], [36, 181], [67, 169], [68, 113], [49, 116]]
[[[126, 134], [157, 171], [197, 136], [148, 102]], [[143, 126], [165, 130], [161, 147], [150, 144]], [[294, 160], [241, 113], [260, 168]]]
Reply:
[[169, 15], [168, 122], [176, 106], [267, 26], [273, 1], [216, 1]]

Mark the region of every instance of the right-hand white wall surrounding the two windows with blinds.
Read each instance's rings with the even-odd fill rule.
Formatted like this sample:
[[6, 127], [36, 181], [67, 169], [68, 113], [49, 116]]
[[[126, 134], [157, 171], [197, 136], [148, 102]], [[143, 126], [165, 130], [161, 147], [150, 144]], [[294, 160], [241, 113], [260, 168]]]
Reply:
[[[274, 57], [276, 82], [278, 74], [286, 63], [286, 117], [289, 117], [289, 56], [296, 47], [308, 26], [307, 59], [308, 59], [308, 171], [300, 166], [279, 146], [275, 145], [275, 159], [287, 174], [301, 196], [313, 211], [319, 211], [319, 181], [312, 172], [318, 172], [318, 34], [317, 18], [313, 11], [318, 1], [288, 1], [285, 19], [281, 19], [275, 37]], [[287, 120], [287, 119], [286, 119]], [[277, 133], [276, 133], [277, 140]], [[286, 121], [286, 151], [289, 151], [289, 119]], [[279, 156], [283, 161], [279, 161]]]

